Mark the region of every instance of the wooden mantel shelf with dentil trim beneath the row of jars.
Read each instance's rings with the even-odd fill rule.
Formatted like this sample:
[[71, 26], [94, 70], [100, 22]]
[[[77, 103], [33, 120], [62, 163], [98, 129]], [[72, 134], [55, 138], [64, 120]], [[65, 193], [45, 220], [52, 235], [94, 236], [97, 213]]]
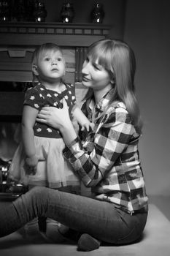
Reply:
[[62, 46], [88, 47], [108, 37], [110, 28], [93, 23], [0, 23], [0, 46], [55, 42]]

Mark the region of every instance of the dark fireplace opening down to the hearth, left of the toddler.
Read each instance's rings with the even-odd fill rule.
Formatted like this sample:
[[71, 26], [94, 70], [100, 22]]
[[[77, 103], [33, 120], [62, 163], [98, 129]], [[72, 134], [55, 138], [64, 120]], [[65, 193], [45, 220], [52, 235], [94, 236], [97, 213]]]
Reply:
[[11, 181], [8, 170], [21, 140], [25, 91], [31, 83], [0, 82], [0, 200], [14, 200], [28, 188]]

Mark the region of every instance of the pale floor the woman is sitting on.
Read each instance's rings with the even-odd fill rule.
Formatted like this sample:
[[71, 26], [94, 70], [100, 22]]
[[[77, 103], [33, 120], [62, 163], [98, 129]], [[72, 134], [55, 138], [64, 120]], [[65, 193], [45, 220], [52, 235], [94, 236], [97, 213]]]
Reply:
[[1, 256], [169, 256], [170, 198], [150, 197], [149, 215], [142, 240], [128, 246], [101, 246], [93, 252], [77, 252], [75, 244], [30, 244], [20, 233], [0, 238]]

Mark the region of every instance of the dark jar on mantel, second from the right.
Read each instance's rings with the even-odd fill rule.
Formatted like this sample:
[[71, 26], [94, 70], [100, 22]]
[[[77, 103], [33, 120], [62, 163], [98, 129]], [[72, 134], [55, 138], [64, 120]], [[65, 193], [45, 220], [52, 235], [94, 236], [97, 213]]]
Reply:
[[61, 22], [63, 23], [72, 23], [74, 19], [74, 8], [73, 5], [69, 2], [65, 2], [61, 9]]

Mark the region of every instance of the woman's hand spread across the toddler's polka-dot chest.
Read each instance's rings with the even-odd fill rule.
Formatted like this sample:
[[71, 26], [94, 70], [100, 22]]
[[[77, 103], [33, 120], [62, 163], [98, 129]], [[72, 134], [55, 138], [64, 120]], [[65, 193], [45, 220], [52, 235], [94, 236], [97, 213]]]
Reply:
[[44, 107], [36, 116], [36, 121], [47, 124], [55, 129], [61, 129], [70, 124], [69, 110], [66, 100], [63, 99], [63, 108]]

